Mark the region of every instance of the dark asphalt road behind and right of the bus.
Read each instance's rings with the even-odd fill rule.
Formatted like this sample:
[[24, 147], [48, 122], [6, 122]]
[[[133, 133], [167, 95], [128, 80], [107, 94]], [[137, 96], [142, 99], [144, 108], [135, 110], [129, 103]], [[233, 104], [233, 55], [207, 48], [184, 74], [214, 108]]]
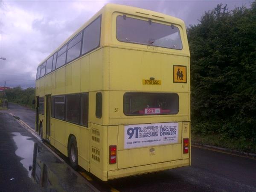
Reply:
[[119, 191], [255, 192], [256, 160], [192, 147], [192, 166], [110, 181]]

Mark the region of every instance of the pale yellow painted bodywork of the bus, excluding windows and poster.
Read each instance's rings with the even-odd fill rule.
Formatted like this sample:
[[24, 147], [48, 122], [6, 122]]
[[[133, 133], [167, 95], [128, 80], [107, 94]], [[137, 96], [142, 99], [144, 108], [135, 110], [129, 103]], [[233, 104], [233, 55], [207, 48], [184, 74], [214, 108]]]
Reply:
[[[116, 39], [116, 17], [126, 14], [141, 20], [172, 23], [180, 30], [183, 48], [167, 49], [130, 44]], [[67, 156], [70, 134], [76, 137], [78, 162], [101, 180], [189, 166], [189, 153], [183, 154], [183, 138], [190, 142], [190, 65], [186, 27], [182, 20], [135, 7], [107, 4], [88, 20], [60, 49], [89, 23], [102, 15], [100, 46], [36, 81], [36, 96], [89, 93], [88, 127], [50, 118], [51, 145]], [[56, 49], [54, 52], [58, 51]], [[53, 53], [54, 53], [53, 52]], [[187, 82], [174, 83], [173, 65], [186, 66]], [[143, 79], [161, 80], [161, 85], [145, 85]], [[102, 117], [95, 116], [96, 93], [102, 93]], [[124, 93], [177, 93], [179, 112], [173, 115], [126, 116]], [[46, 108], [46, 102], [45, 102]], [[143, 148], [124, 148], [124, 127], [131, 124], [178, 122], [178, 142]], [[39, 114], [46, 139], [46, 113]], [[117, 163], [109, 164], [109, 145], [117, 145]]]

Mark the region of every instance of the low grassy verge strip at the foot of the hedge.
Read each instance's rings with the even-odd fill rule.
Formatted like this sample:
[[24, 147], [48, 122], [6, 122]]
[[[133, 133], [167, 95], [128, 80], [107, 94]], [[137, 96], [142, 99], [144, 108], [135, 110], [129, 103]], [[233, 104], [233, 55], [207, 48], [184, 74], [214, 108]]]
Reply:
[[227, 138], [217, 134], [199, 135], [191, 133], [191, 141], [199, 145], [212, 145], [229, 150], [256, 154], [256, 143], [245, 138]]

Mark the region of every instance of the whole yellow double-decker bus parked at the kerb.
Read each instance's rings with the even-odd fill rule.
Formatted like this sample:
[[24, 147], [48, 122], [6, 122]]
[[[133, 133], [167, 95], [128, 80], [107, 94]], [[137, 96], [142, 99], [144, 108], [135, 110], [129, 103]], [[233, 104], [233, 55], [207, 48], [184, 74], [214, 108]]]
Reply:
[[107, 4], [36, 75], [36, 129], [101, 180], [190, 165], [184, 22]]

